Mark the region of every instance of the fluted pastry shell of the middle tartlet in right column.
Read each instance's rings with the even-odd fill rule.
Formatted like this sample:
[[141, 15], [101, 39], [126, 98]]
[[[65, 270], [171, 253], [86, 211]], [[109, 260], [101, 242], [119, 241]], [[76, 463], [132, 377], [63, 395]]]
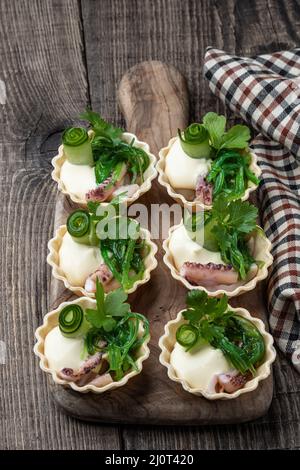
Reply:
[[163, 242], [163, 249], [165, 250], [165, 255], [163, 257], [164, 263], [168, 266], [171, 271], [171, 276], [180, 281], [187, 289], [197, 289], [205, 291], [211, 297], [219, 297], [222, 294], [227, 294], [228, 297], [236, 297], [238, 295], [244, 294], [245, 292], [249, 292], [256, 287], [256, 284], [259, 281], [262, 281], [268, 276], [268, 268], [273, 263], [273, 256], [271, 255], [272, 244], [271, 242], [265, 237], [260, 234], [257, 234], [255, 237], [255, 246], [254, 246], [254, 257], [257, 260], [263, 261], [264, 265], [258, 269], [256, 276], [250, 279], [243, 285], [237, 285], [235, 289], [218, 289], [218, 290], [209, 290], [204, 286], [195, 286], [192, 285], [189, 281], [187, 281], [183, 276], [180, 275], [178, 269], [174, 265], [173, 256], [169, 249], [170, 238], [174, 230], [179, 228], [183, 225], [183, 221], [179, 225], [174, 225], [169, 230], [168, 238]]

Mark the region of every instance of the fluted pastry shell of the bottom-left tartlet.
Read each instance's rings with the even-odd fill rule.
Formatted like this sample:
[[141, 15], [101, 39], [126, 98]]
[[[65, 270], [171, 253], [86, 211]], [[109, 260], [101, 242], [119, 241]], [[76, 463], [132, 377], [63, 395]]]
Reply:
[[[93, 385], [91, 383], [78, 385], [75, 383], [75, 381], [65, 380], [61, 378], [57, 370], [49, 367], [49, 362], [45, 355], [46, 337], [49, 333], [51, 332], [53, 333], [54, 330], [58, 329], [57, 327], [59, 324], [59, 313], [62, 311], [62, 309], [69, 307], [69, 306], [74, 306], [74, 305], [80, 306], [82, 309], [85, 309], [85, 308], [92, 309], [96, 307], [96, 301], [87, 297], [81, 297], [79, 299], [74, 300], [73, 302], [63, 302], [62, 304], [59, 305], [57, 309], [52, 310], [51, 312], [47, 313], [47, 315], [45, 315], [43, 325], [37, 328], [35, 332], [35, 337], [37, 339], [37, 342], [34, 346], [34, 353], [36, 354], [36, 356], [40, 358], [40, 368], [44, 372], [52, 376], [54, 383], [58, 385], [63, 385], [64, 387], [67, 387], [67, 388], [72, 388], [73, 390], [77, 392], [81, 392], [81, 393], [93, 392], [96, 394], [100, 394], [109, 390], [122, 387], [123, 385], [126, 385], [128, 380], [130, 380], [132, 377], [140, 374], [142, 371], [143, 362], [149, 357], [149, 354], [150, 354], [150, 350], [148, 347], [148, 342], [150, 340], [149, 335], [148, 337], [145, 338], [144, 342], [139, 346], [139, 348], [136, 351], [136, 355], [135, 355], [136, 369], [134, 368], [128, 369], [128, 372], [126, 372], [124, 376], [120, 378], [119, 380], [110, 381], [109, 383], [106, 383], [105, 385], [102, 385], [102, 386]], [[141, 331], [143, 332], [144, 330], [142, 329]], [[55, 344], [53, 346], [55, 346]], [[105, 356], [104, 356], [104, 360], [106, 360]], [[65, 374], [69, 373], [67, 371], [70, 372], [70, 369], [66, 369], [64, 373]]]

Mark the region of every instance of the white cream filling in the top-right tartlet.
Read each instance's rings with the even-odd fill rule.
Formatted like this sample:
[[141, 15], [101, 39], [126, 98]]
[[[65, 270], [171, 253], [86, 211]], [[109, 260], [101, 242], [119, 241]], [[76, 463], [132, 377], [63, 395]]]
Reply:
[[209, 159], [189, 157], [177, 137], [166, 156], [165, 174], [173, 188], [195, 189], [198, 176], [206, 176], [210, 167]]

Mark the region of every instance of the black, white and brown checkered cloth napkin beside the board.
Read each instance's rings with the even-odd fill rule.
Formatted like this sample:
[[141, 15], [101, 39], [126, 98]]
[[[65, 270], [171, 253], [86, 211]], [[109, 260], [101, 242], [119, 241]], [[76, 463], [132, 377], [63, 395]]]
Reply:
[[300, 48], [253, 58], [208, 48], [211, 91], [260, 134], [261, 219], [273, 245], [270, 327], [300, 372]]

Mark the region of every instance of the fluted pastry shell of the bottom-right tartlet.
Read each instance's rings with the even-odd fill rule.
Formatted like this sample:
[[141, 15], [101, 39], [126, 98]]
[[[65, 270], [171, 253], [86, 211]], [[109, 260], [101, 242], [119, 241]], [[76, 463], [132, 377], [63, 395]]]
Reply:
[[[174, 350], [174, 346], [176, 344], [176, 332], [177, 329], [187, 323], [187, 321], [183, 318], [182, 313], [183, 311], [179, 312], [176, 319], [169, 321], [165, 325], [164, 335], [161, 336], [159, 340], [159, 347], [161, 349], [161, 354], [159, 356], [160, 363], [167, 368], [168, 377], [173, 380], [174, 382], [180, 383], [184, 390], [194, 395], [203, 396], [209, 400], [230, 400], [239, 397], [245, 393], [249, 393], [254, 391], [260, 381], [266, 379], [271, 373], [271, 364], [274, 362], [276, 358], [276, 352], [273, 347], [273, 338], [272, 336], [266, 332], [264, 323], [259, 320], [258, 318], [252, 317], [250, 313], [243, 309], [243, 308], [233, 308], [231, 306], [230, 310], [233, 311], [238, 316], [245, 318], [253, 323], [256, 326], [259, 333], [262, 335], [265, 343], [265, 353], [264, 359], [262, 363], [257, 367], [254, 376], [249, 380], [247, 380], [242, 388], [239, 388], [232, 393], [228, 393], [226, 391], [216, 391], [214, 389], [203, 389], [200, 387], [191, 387], [188, 381], [182, 377], [179, 377], [176, 374], [174, 366], [171, 364], [171, 355]], [[221, 351], [217, 350], [219, 354], [222, 354]], [[219, 366], [220, 367], [220, 366]], [[199, 369], [200, 372], [200, 369]], [[225, 372], [225, 371], [224, 371]], [[223, 374], [221, 374], [223, 375]], [[226, 375], [226, 374], [224, 374]], [[211, 380], [214, 383], [214, 376], [211, 376]], [[216, 382], [217, 383], [217, 382]]]

